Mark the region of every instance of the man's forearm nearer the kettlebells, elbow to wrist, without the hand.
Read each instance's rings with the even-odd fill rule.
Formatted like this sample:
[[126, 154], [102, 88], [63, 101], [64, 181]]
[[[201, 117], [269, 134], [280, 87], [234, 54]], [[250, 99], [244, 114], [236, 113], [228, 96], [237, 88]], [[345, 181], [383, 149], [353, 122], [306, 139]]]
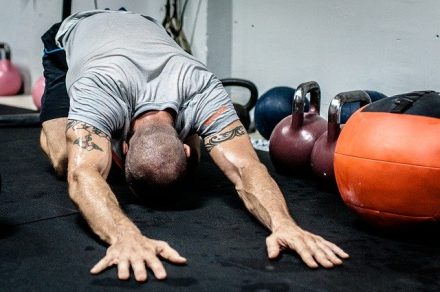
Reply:
[[236, 186], [246, 208], [267, 228], [274, 230], [283, 223], [293, 222], [286, 201], [266, 168], [255, 163], [240, 171]]

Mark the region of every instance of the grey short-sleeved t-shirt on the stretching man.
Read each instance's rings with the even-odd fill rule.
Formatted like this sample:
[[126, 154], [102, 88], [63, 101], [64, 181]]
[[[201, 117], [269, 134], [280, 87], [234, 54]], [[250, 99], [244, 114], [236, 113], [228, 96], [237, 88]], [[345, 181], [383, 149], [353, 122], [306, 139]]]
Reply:
[[182, 140], [204, 138], [238, 119], [221, 82], [153, 19], [80, 12], [62, 23], [56, 41], [69, 66], [69, 119], [124, 139], [137, 116], [170, 108]]

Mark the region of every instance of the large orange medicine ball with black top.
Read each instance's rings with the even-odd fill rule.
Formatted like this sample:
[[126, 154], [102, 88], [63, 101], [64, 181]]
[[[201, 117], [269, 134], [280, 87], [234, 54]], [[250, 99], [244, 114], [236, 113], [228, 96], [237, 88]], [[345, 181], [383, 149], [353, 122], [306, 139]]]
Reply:
[[347, 122], [334, 170], [344, 202], [380, 226], [440, 221], [440, 95], [376, 101]]

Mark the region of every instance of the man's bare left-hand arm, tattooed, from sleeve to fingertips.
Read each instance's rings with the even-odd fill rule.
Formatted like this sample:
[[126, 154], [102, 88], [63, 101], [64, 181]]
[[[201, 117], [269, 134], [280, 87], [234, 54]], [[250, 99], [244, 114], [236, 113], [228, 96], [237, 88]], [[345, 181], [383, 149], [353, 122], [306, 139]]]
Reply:
[[118, 277], [128, 279], [131, 267], [136, 280], [145, 281], [148, 266], [156, 278], [164, 279], [166, 272], [158, 256], [173, 263], [186, 260], [166, 242], [143, 236], [121, 210], [105, 180], [111, 166], [109, 137], [74, 120], [69, 120], [66, 134], [69, 195], [92, 230], [110, 245], [91, 272], [100, 273], [117, 265]]

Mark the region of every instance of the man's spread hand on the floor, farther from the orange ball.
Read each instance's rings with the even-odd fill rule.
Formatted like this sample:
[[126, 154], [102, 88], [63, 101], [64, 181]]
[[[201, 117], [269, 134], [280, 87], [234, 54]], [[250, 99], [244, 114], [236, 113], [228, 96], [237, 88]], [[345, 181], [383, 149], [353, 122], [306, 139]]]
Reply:
[[107, 249], [107, 254], [91, 270], [92, 274], [99, 274], [105, 269], [117, 265], [118, 278], [130, 278], [130, 267], [134, 277], [139, 282], [147, 280], [147, 268], [153, 271], [156, 279], [163, 280], [167, 277], [165, 268], [159, 257], [173, 264], [185, 264], [186, 259], [171, 248], [165, 241], [154, 240], [142, 234], [125, 234], [118, 238]]

